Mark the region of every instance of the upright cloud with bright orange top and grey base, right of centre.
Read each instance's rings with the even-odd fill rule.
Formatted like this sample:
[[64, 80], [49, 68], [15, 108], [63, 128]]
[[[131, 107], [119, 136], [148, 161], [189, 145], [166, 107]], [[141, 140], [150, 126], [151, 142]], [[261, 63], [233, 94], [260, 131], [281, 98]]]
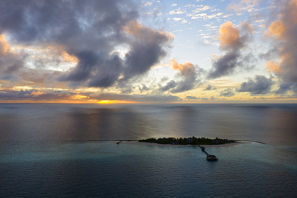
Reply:
[[232, 22], [227, 21], [220, 25], [219, 48], [226, 51], [225, 55], [212, 57], [212, 69], [208, 74], [209, 79], [225, 76], [235, 72], [236, 68], [250, 69], [252, 60], [255, 60], [251, 53], [242, 56], [241, 49], [247, 45], [251, 39], [252, 27], [247, 23], [242, 23], [242, 36], [238, 28]]

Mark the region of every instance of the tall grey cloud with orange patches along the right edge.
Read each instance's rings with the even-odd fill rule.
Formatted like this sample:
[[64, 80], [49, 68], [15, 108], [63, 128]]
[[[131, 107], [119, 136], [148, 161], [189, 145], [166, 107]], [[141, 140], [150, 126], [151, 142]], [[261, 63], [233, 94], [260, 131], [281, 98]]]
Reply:
[[[283, 85], [295, 84], [297, 83], [297, 1], [281, 1], [278, 6], [279, 19], [271, 23], [265, 34], [271, 39], [273, 47], [268, 53], [261, 55], [266, 58], [276, 54], [277, 61], [266, 63], [267, 71], [279, 76]], [[280, 90], [282, 89], [280, 87]]]

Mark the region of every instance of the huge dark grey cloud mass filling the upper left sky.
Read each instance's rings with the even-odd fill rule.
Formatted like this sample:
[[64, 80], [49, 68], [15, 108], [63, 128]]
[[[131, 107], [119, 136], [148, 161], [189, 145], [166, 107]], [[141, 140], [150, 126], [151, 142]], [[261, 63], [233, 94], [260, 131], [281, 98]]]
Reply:
[[[75, 56], [77, 66], [59, 77], [72, 86], [106, 88], [142, 75], [173, 40], [141, 26], [132, 1], [1, 1], [0, 14], [0, 34], [24, 45], [57, 45]], [[113, 52], [119, 46], [128, 52]]]

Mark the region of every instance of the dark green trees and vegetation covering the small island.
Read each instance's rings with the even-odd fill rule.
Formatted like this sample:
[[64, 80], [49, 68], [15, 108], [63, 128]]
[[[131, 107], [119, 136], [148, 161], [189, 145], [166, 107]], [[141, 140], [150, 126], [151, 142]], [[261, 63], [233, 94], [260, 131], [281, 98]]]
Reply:
[[157, 143], [157, 144], [180, 144], [180, 145], [218, 145], [218, 144], [228, 144], [235, 142], [234, 140], [227, 140], [227, 139], [209, 139], [205, 137], [189, 137], [189, 138], [174, 138], [174, 137], [168, 137], [168, 138], [149, 138], [146, 140], [139, 140], [139, 142], [151, 142], [151, 143]]

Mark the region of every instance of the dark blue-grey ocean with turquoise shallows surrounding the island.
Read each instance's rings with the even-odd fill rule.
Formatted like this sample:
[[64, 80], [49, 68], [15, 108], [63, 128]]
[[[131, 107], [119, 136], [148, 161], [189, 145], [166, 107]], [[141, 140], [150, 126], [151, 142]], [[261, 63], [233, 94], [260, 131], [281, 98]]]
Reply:
[[[296, 197], [297, 104], [0, 104], [0, 197]], [[229, 147], [116, 144], [159, 137]], [[260, 143], [262, 142], [262, 143]]]

